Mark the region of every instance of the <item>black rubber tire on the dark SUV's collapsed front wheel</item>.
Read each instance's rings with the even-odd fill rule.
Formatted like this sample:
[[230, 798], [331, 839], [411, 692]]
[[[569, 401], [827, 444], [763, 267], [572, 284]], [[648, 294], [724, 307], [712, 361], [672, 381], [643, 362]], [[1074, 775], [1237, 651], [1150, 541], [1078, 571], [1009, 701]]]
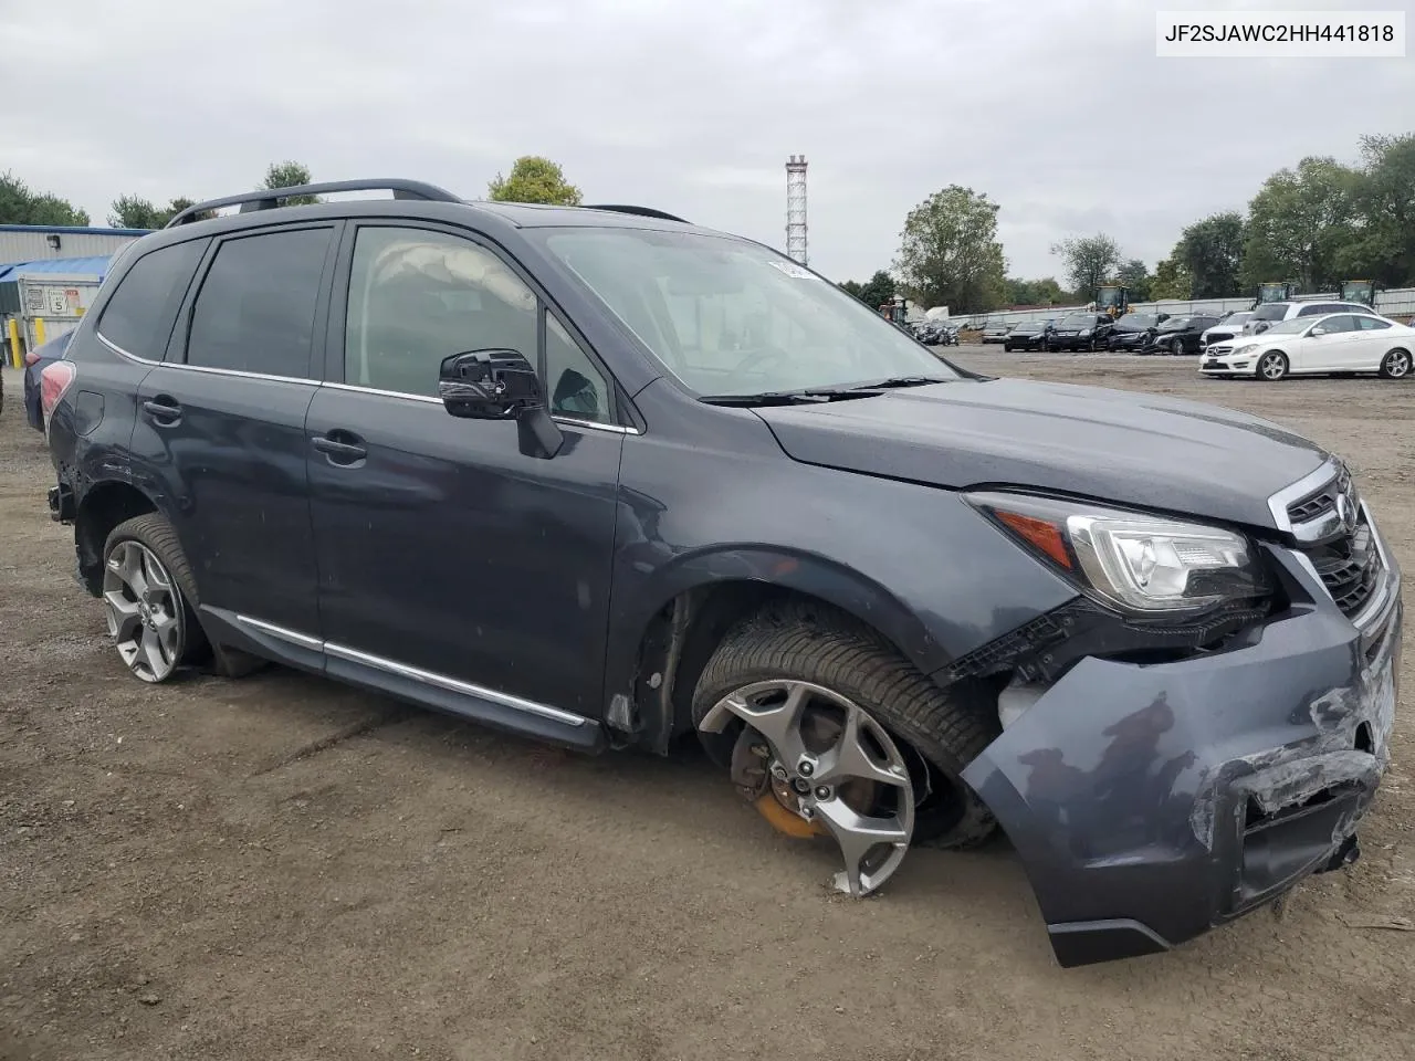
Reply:
[[[811, 682], [853, 700], [907, 746], [914, 782], [916, 846], [974, 847], [996, 819], [961, 774], [1002, 731], [989, 690], [940, 689], [873, 631], [846, 617], [790, 604], [739, 624], [717, 645], [693, 693], [693, 726], [729, 693], [753, 682]], [[719, 738], [717, 734], [702, 734]], [[920, 761], [921, 760], [921, 761]]]

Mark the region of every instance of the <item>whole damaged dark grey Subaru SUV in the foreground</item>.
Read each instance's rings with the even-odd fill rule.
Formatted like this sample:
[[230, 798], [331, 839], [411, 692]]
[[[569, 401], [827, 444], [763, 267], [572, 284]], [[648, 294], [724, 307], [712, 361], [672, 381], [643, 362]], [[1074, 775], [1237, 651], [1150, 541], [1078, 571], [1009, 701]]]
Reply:
[[42, 375], [50, 509], [143, 682], [275, 661], [583, 751], [695, 737], [852, 895], [1000, 825], [1063, 965], [1358, 853], [1401, 574], [1266, 420], [971, 372], [658, 211], [416, 181], [198, 204]]

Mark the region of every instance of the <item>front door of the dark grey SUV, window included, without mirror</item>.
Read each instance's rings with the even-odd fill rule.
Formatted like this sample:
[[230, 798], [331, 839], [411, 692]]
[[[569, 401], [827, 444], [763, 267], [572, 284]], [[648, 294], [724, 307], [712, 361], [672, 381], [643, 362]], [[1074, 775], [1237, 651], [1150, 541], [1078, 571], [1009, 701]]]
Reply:
[[[607, 373], [464, 235], [362, 225], [341, 262], [307, 424], [327, 651], [599, 717], [624, 443]], [[487, 348], [539, 364], [553, 458], [436, 398], [443, 358]]]

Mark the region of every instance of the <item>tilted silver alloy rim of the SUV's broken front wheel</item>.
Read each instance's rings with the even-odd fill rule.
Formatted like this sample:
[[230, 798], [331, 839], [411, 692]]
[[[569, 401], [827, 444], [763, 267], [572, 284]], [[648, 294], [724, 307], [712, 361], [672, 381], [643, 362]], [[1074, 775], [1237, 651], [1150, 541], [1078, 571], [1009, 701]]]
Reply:
[[722, 731], [733, 716], [763, 741], [771, 796], [835, 839], [845, 862], [835, 887], [859, 897], [889, 880], [914, 835], [914, 785], [884, 727], [849, 697], [794, 679], [733, 690], [699, 727]]

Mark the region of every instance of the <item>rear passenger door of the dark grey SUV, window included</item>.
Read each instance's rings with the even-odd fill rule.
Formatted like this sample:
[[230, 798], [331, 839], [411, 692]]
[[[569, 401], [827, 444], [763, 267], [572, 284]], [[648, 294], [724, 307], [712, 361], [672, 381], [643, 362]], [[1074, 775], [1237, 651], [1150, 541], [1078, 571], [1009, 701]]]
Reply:
[[139, 392], [133, 458], [164, 495], [204, 610], [318, 635], [304, 417], [337, 224], [222, 238], [164, 364]]

